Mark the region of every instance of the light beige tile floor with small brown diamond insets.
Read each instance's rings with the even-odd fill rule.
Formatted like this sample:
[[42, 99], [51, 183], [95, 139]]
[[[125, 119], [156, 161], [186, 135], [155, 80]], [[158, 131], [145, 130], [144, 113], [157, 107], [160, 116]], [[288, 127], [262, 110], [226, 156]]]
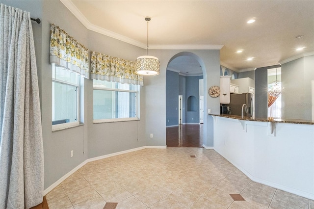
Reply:
[[46, 198], [50, 209], [103, 209], [106, 202], [117, 209], [314, 209], [313, 200], [253, 182], [204, 148], [144, 149], [93, 161]]

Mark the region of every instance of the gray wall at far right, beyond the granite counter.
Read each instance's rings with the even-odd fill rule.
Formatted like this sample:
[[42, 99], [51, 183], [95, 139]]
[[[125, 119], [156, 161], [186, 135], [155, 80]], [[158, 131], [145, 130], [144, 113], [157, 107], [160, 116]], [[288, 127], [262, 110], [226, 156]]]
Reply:
[[312, 80], [314, 55], [305, 56], [281, 66], [282, 117], [312, 120]]

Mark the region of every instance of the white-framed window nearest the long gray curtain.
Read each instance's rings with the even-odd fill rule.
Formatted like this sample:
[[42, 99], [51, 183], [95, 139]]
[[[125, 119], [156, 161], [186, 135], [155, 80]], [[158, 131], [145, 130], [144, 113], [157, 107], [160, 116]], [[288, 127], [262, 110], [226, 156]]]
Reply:
[[77, 73], [52, 64], [52, 130], [79, 125], [79, 84]]

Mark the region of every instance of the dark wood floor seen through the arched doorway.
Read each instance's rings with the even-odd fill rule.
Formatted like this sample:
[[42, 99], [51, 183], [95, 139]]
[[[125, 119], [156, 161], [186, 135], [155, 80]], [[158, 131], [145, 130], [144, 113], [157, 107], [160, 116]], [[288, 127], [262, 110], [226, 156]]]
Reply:
[[203, 124], [166, 128], [167, 147], [202, 147]]

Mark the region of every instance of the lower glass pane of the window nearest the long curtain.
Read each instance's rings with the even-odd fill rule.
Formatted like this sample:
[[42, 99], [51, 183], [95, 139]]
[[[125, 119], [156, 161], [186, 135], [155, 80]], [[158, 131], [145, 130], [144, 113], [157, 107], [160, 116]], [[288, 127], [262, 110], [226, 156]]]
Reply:
[[52, 125], [78, 121], [78, 89], [52, 82]]

